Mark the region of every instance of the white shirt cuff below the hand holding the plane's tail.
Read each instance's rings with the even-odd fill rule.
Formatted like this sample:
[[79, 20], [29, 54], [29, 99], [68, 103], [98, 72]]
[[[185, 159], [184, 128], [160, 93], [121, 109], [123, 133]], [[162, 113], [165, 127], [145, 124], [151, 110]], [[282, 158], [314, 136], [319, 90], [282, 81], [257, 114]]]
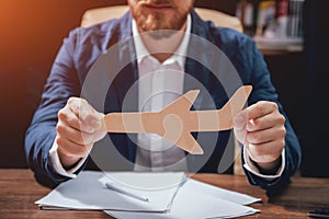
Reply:
[[285, 168], [285, 149], [282, 150], [281, 157], [282, 157], [281, 165], [280, 165], [279, 170], [276, 171], [276, 173], [273, 175], [264, 175], [264, 174], [261, 174], [259, 169], [253, 164], [248, 152], [245, 150], [245, 147], [243, 147], [243, 160], [245, 160], [243, 168], [259, 177], [262, 177], [266, 181], [272, 181], [272, 180], [280, 177], [283, 173], [283, 170]]

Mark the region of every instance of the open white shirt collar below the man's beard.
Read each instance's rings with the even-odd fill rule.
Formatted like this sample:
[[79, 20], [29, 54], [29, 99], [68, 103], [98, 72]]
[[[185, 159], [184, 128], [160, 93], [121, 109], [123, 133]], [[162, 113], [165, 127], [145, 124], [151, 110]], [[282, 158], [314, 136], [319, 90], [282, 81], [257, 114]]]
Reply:
[[[135, 42], [137, 62], [140, 64], [140, 61], [146, 57], [150, 58], [152, 61], [158, 61], [155, 57], [149, 55], [149, 51], [145, 47], [141, 38], [138, 37], [139, 33], [138, 33], [137, 23], [136, 23], [135, 19], [133, 19], [132, 28], [133, 28], [133, 36], [134, 36], [134, 42]], [[190, 42], [191, 28], [192, 28], [192, 19], [191, 19], [191, 14], [189, 14], [188, 21], [186, 21], [186, 31], [185, 31], [185, 33], [188, 33], [188, 34], [184, 34], [183, 41], [180, 44], [179, 48], [175, 50], [175, 53], [171, 57], [169, 57], [163, 62], [163, 65], [178, 61], [178, 64], [180, 65], [181, 68], [184, 67], [185, 56], [188, 54], [188, 45]]]

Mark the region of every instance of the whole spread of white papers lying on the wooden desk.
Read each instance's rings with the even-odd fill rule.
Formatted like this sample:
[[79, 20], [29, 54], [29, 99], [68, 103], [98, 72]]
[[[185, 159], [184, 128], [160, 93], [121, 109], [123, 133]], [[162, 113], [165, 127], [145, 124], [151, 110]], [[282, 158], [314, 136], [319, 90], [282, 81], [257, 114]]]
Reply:
[[[106, 182], [143, 195], [138, 200], [107, 189]], [[184, 183], [182, 183], [184, 182]], [[45, 209], [105, 210], [121, 219], [231, 218], [258, 212], [245, 206], [260, 200], [185, 177], [182, 172], [84, 171], [36, 201]]]

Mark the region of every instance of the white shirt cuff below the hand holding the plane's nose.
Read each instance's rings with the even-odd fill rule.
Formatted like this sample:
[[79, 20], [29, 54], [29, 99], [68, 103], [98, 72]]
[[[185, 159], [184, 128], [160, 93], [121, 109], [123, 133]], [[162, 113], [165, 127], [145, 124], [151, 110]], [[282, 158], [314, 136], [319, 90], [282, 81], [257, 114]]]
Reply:
[[54, 170], [63, 176], [72, 177], [72, 178], [77, 177], [77, 174], [75, 174], [75, 172], [82, 166], [87, 157], [81, 159], [75, 168], [72, 168], [70, 170], [65, 170], [59, 160], [57, 148], [58, 148], [57, 143], [54, 142], [53, 147], [49, 150], [50, 162], [52, 162]]

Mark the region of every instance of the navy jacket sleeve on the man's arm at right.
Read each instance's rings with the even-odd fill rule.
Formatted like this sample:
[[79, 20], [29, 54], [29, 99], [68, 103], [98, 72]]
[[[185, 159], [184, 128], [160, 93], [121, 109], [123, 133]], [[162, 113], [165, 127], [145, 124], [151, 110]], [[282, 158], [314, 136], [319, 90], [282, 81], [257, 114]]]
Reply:
[[248, 104], [253, 104], [258, 101], [272, 101], [275, 102], [279, 106], [280, 112], [285, 116], [285, 128], [286, 128], [286, 137], [285, 137], [285, 168], [280, 177], [273, 181], [266, 181], [254, 174], [250, 173], [245, 169], [245, 173], [252, 185], [260, 186], [266, 189], [269, 193], [280, 192], [288, 182], [290, 177], [295, 174], [295, 172], [299, 169], [300, 160], [302, 160], [302, 151], [296, 134], [290, 123], [290, 119], [286, 113], [283, 110], [282, 104], [279, 102], [277, 93], [275, 88], [271, 82], [271, 76], [268, 70], [266, 64], [263, 59], [263, 56], [258, 50], [256, 44], [253, 42], [249, 42], [247, 44], [247, 51], [251, 53], [251, 56], [248, 61], [250, 61], [251, 66], [251, 78], [250, 82], [253, 85], [253, 92], [249, 99]]

